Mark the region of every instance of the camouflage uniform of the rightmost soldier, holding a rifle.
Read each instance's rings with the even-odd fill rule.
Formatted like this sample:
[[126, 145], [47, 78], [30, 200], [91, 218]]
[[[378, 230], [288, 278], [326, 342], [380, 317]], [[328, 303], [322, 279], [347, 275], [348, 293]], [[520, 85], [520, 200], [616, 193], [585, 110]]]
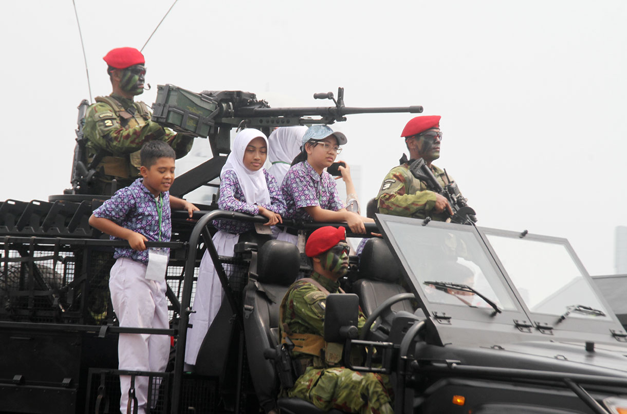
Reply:
[[[409, 163], [392, 168], [383, 179], [377, 195], [379, 212], [417, 219], [429, 216], [436, 221], [445, 221], [450, 215], [446, 210], [441, 213], [432, 211], [436, 193], [427, 190], [426, 183], [414, 177], [409, 171]], [[431, 165], [431, 171], [442, 187], [449, 184], [444, 170]], [[451, 182], [454, 181], [452, 177], [450, 179]]]

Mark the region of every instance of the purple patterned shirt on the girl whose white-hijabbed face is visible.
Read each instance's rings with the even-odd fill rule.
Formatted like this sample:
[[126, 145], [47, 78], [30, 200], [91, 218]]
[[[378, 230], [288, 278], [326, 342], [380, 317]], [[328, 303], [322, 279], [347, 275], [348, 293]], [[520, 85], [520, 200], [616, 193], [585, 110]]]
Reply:
[[[246, 197], [237, 179], [237, 174], [233, 170], [226, 170], [222, 182], [220, 183], [220, 198], [218, 199], [219, 209], [257, 215], [259, 214], [257, 205], [261, 205], [283, 216], [283, 214], [285, 214], [285, 202], [283, 202], [283, 197], [281, 197], [281, 192], [278, 189], [277, 180], [265, 169], [263, 170], [263, 174], [266, 177], [266, 185], [268, 185], [268, 192], [270, 193], [270, 204], [246, 203]], [[216, 226], [218, 230], [233, 234], [255, 230], [255, 224], [243, 223], [236, 220], [213, 220], [213, 225]]]

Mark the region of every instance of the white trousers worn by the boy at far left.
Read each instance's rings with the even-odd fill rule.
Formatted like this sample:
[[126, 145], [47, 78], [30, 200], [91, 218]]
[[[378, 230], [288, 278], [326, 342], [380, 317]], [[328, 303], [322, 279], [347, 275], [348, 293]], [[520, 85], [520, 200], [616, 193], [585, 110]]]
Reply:
[[[109, 278], [113, 311], [120, 326], [168, 329], [166, 282], [150, 281], [145, 275], [145, 264], [126, 257], [115, 261]], [[163, 372], [169, 353], [170, 338], [167, 335], [121, 333], [118, 340], [120, 370]], [[139, 414], [145, 413], [148, 385], [148, 377], [135, 377]], [[130, 375], [120, 375], [120, 411], [123, 414], [127, 412], [129, 387]], [[151, 405], [154, 405], [158, 395], [159, 388], [155, 387]]]

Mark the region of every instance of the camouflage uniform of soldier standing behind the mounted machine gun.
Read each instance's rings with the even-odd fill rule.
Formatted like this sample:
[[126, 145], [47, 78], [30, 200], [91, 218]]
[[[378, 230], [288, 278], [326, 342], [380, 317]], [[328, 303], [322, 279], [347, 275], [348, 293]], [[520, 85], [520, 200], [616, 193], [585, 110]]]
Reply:
[[134, 102], [118, 95], [98, 96], [85, 115], [83, 133], [87, 138], [87, 160], [92, 162], [100, 150], [104, 157], [95, 167], [99, 172], [93, 194], [108, 195], [110, 183], [127, 187], [139, 175], [139, 150], [145, 142], [167, 142], [181, 158], [191, 150], [193, 138], [177, 135], [150, 120], [150, 110], [144, 102]]

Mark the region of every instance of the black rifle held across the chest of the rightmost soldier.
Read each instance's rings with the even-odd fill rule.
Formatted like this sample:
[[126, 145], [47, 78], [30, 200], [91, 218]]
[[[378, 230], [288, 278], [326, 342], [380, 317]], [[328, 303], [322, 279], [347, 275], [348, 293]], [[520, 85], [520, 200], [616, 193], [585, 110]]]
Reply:
[[442, 187], [438, 180], [436, 180], [433, 172], [431, 172], [431, 168], [429, 168], [426, 162], [424, 162], [423, 158], [418, 158], [418, 160], [412, 162], [409, 165], [409, 171], [411, 171], [416, 179], [426, 182], [429, 190], [443, 195], [446, 200], [448, 200], [448, 204], [451, 205], [451, 209], [453, 210], [453, 215], [451, 215], [446, 222], [453, 222], [457, 224], [471, 224], [471, 222], [477, 222], [477, 217], [475, 215], [477, 213], [475, 213], [475, 210], [471, 207], [468, 207], [468, 204], [466, 204], [468, 199], [461, 195], [456, 182], [450, 182], [448, 174], [446, 175], [446, 180], [449, 184]]

